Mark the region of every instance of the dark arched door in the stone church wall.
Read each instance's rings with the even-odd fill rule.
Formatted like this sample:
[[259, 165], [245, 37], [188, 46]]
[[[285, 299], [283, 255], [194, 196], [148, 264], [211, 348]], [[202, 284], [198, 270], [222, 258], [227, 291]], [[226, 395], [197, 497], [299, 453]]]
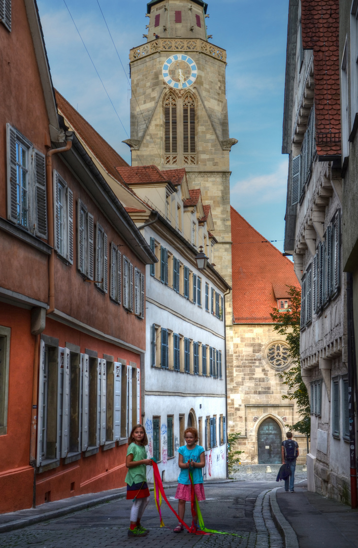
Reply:
[[282, 433], [274, 419], [264, 420], [257, 432], [259, 464], [281, 464]]

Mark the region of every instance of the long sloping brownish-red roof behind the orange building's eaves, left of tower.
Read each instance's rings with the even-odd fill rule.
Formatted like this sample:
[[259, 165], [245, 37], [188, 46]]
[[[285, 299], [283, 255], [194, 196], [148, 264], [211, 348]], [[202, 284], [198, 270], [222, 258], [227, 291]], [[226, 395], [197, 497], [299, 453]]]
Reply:
[[80, 138], [86, 143], [94, 156], [99, 159], [103, 167], [115, 179], [123, 183], [121, 177], [116, 170], [117, 165], [128, 165], [122, 156], [118, 154], [104, 140], [103, 137], [85, 120], [76, 109], [62, 95], [55, 90], [56, 101], [62, 115], [69, 121], [73, 129], [78, 133]]

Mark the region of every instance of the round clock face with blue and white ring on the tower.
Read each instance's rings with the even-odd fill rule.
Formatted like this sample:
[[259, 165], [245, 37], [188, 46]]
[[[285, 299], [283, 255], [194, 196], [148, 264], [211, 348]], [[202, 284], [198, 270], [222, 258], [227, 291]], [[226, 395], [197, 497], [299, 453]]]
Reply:
[[175, 89], [189, 88], [194, 84], [197, 76], [197, 67], [195, 62], [182, 53], [177, 53], [168, 57], [163, 65], [164, 81]]

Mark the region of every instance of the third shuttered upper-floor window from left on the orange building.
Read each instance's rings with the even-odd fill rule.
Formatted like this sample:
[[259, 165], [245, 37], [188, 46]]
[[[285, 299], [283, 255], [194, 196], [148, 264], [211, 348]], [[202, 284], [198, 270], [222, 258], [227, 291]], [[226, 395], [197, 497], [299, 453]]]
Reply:
[[77, 202], [77, 268], [86, 278], [94, 275], [94, 224], [93, 215], [85, 204]]

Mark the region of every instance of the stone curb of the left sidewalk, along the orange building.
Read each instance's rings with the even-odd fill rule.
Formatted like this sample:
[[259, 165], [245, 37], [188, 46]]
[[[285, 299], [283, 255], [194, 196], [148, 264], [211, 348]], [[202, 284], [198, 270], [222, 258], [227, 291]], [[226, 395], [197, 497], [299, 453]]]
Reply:
[[[235, 479], [223, 479], [221, 481], [220, 479], [217, 479], [217, 480], [213, 479], [212, 481], [209, 481], [206, 483], [209, 483], [209, 484], [231, 483], [235, 481], [236, 481]], [[163, 487], [164, 489], [171, 489], [173, 487], [177, 487], [177, 485], [178, 485], [177, 483], [173, 483], [173, 484], [165, 485]], [[154, 487], [150, 487], [149, 490], [154, 491]], [[78, 504], [72, 504], [70, 506], [65, 506], [63, 508], [58, 508], [56, 510], [52, 510], [48, 512], [45, 511], [37, 514], [36, 516], [30, 516], [30, 517], [26, 516], [26, 517], [20, 518], [19, 520], [3, 523], [3, 524], [0, 524], [0, 534], [7, 533], [9, 531], [13, 531], [16, 529], [22, 529], [24, 527], [29, 527], [30, 525], [34, 525], [35, 523], [41, 523], [43, 521], [53, 520], [54, 518], [66, 516], [72, 512], [79, 512], [81, 510], [86, 510], [87, 508], [92, 508], [93, 506], [107, 503], [111, 500], [124, 499], [126, 498], [126, 495], [127, 495], [126, 491], [123, 491], [122, 493], [111, 493], [98, 498], [84, 500]], [[66, 503], [66, 500], [71, 500], [71, 499], [65, 499], [65, 503]]]

